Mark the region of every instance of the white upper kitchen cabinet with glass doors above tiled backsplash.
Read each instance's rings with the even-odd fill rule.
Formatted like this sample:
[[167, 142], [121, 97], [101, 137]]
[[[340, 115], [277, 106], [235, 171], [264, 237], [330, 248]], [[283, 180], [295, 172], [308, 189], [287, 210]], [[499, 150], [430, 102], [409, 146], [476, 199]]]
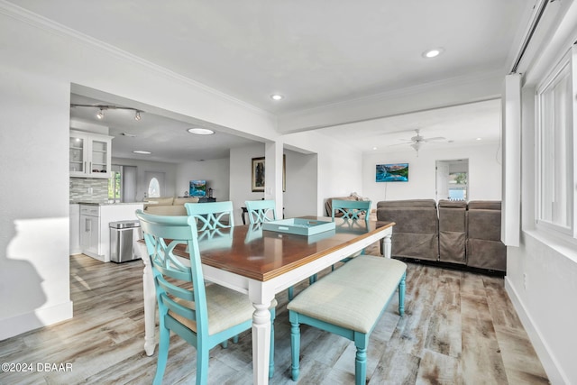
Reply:
[[70, 177], [110, 178], [112, 136], [70, 130]]

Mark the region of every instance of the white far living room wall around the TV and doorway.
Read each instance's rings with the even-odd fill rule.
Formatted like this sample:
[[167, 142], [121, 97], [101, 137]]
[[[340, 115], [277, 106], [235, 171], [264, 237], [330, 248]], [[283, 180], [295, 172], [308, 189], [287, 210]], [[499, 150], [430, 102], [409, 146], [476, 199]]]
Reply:
[[[501, 165], [498, 143], [488, 143], [450, 150], [421, 149], [407, 151], [365, 153], [362, 158], [362, 191], [370, 197], [373, 208], [381, 200], [436, 199], [435, 161], [469, 160], [469, 198], [467, 200], [501, 199]], [[498, 161], [499, 160], [499, 161]], [[375, 166], [385, 163], [408, 163], [408, 182], [375, 181]]]

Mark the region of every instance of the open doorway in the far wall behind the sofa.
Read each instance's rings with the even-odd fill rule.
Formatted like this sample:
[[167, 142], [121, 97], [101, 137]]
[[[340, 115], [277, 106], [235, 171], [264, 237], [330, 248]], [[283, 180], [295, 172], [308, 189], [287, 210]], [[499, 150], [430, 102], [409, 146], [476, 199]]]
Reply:
[[469, 199], [469, 160], [436, 160], [436, 200]]

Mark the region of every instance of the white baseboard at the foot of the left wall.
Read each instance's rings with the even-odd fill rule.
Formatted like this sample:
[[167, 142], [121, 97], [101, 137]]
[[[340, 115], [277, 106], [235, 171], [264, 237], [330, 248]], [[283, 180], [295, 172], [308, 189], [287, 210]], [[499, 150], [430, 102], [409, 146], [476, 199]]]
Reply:
[[72, 301], [0, 320], [0, 341], [72, 318]]

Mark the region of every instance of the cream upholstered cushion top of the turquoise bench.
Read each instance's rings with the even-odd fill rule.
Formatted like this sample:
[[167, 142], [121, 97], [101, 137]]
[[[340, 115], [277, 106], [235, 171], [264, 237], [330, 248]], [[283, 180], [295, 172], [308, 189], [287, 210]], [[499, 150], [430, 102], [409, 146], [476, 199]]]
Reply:
[[406, 270], [401, 261], [361, 255], [303, 290], [287, 308], [368, 334]]

